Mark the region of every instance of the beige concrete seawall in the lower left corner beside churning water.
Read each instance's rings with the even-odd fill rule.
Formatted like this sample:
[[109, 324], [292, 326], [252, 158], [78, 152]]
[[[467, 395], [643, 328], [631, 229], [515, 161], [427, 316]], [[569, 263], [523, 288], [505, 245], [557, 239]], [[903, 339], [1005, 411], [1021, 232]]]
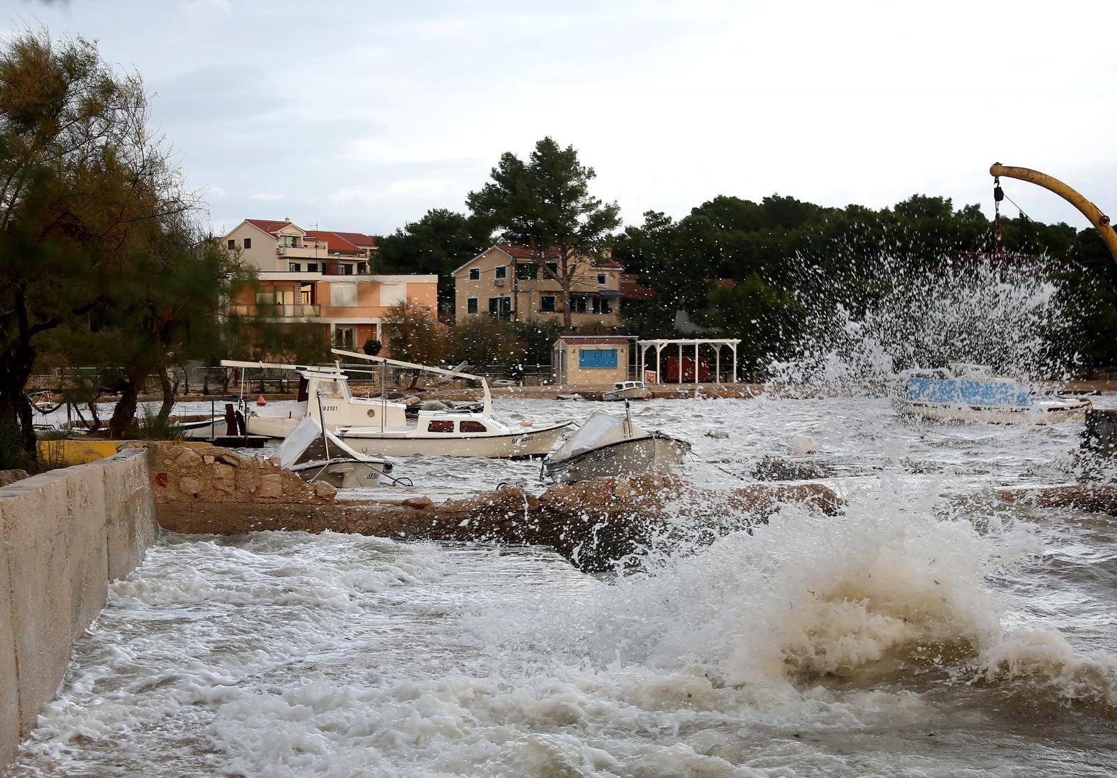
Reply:
[[0, 772], [52, 700], [70, 642], [155, 541], [142, 449], [0, 488]]

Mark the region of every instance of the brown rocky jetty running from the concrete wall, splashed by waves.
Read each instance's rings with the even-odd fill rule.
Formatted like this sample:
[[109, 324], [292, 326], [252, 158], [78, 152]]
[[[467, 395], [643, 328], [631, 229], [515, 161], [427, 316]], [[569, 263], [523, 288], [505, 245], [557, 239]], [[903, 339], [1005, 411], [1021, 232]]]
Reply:
[[218, 448], [151, 445], [160, 524], [176, 532], [229, 535], [261, 529], [360, 532], [401, 539], [551, 546], [584, 570], [608, 569], [649, 548], [710, 542], [766, 521], [781, 506], [840, 511], [821, 484], [755, 483], [698, 489], [665, 476], [594, 479], [540, 496], [500, 489], [462, 500], [337, 501], [270, 461]]

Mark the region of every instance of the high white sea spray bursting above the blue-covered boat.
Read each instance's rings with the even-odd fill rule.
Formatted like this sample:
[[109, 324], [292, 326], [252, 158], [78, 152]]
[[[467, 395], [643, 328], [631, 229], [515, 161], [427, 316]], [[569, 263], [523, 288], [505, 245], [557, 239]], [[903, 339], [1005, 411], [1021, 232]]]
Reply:
[[1043, 258], [1013, 263], [882, 258], [871, 279], [805, 269], [811, 311], [793, 359], [771, 365], [783, 392], [888, 393], [915, 367], [962, 362], [1032, 380], [1066, 377], [1073, 292]]

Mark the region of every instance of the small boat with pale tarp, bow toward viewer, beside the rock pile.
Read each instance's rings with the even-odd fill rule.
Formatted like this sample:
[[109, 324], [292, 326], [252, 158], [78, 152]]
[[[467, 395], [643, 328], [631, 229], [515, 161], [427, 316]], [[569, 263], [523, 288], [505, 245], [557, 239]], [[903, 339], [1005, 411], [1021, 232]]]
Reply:
[[279, 445], [279, 464], [307, 482], [323, 481], [335, 489], [378, 487], [392, 463], [353, 451], [312, 416], [303, 421]]

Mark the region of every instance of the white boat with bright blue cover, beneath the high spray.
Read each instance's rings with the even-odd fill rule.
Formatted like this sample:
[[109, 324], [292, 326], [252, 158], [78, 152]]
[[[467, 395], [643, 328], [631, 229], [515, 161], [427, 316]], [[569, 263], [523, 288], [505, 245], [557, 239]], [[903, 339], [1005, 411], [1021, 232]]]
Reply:
[[935, 421], [991, 424], [1054, 424], [1081, 416], [1089, 400], [1053, 395], [1037, 398], [1015, 378], [993, 375], [982, 365], [953, 363], [905, 374], [900, 413]]

